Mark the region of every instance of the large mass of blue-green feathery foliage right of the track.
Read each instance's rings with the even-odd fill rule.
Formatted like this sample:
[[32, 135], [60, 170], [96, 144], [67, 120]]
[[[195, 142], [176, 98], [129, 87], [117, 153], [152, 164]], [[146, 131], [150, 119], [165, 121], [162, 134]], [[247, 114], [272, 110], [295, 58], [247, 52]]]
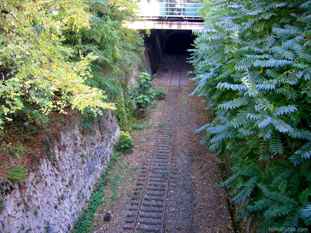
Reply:
[[[197, 30], [197, 87], [216, 112], [202, 144], [230, 156], [232, 200], [258, 232], [310, 227], [311, 2], [219, 1]], [[244, 202], [247, 200], [247, 202]]]

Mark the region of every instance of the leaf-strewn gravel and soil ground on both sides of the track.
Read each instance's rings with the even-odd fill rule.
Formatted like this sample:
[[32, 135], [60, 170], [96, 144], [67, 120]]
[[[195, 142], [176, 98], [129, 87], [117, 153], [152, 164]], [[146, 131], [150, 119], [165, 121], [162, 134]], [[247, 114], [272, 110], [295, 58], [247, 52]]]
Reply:
[[[170, 57], [158, 69], [155, 89], [168, 89]], [[188, 69], [190, 69], [188, 67]], [[176, 186], [169, 190], [165, 212], [166, 233], [234, 232], [227, 195], [223, 188], [220, 159], [213, 156], [199, 141], [204, 132], [194, 131], [211, 121], [204, 110], [202, 98], [189, 96], [194, 85], [184, 72], [179, 93], [179, 107], [175, 132], [172, 167], [177, 171]], [[123, 232], [131, 196], [141, 175], [143, 163], [149, 163], [155, 144], [165, 101], [157, 100], [155, 107], [144, 113], [136, 124], [146, 126], [142, 131], [133, 130], [137, 142], [132, 154], [118, 158], [114, 171], [109, 174], [105, 204], [98, 208], [94, 220], [94, 233]], [[111, 220], [104, 221], [104, 213], [111, 213]]]

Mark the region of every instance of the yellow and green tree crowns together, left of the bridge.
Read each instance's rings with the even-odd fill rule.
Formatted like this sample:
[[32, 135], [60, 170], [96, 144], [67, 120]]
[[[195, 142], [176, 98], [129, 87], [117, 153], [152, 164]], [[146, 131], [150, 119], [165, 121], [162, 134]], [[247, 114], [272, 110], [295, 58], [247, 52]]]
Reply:
[[142, 36], [122, 26], [136, 7], [124, 0], [1, 2], [0, 126], [14, 114], [30, 122], [68, 107], [115, 109], [104, 92], [120, 94], [124, 73], [141, 62]]

